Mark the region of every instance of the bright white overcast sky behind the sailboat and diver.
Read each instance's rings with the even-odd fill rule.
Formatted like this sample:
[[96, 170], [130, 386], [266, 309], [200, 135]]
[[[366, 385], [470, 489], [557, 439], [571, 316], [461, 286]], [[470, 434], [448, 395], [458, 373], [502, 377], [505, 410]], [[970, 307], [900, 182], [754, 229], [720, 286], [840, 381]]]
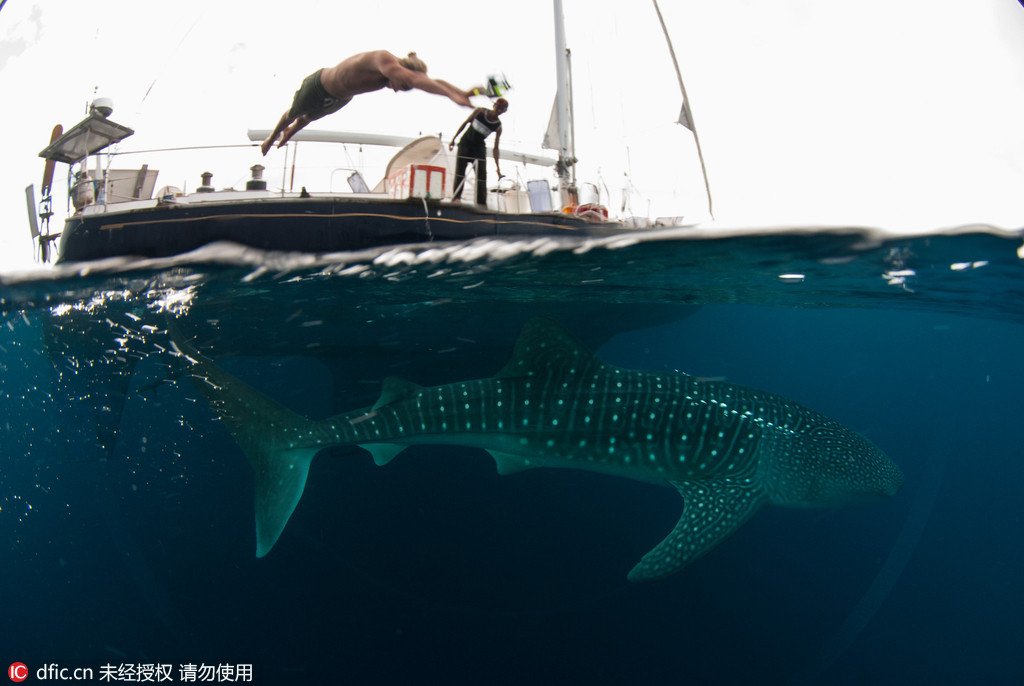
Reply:
[[[718, 224], [1024, 225], [1024, 8], [1016, 0], [662, 5]], [[499, 18], [489, 16], [494, 5], [481, 13], [465, 0], [274, 6], [8, 0], [0, 11], [0, 270], [31, 266], [25, 186], [39, 185], [38, 153], [52, 126], [78, 122], [94, 89], [114, 99], [112, 119], [136, 131], [121, 151], [245, 143], [248, 128], [273, 126], [314, 69], [362, 50], [415, 49], [432, 76], [459, 85], [505, 72], [514, 90], [502, 142], [540, 152], [554, 94], [548, 0], [508, 5]], [[629, 169], [634, 213], [646, 214], [649, 201], [652, 214], [701, 218], [693, 144], [672, 124], [680, 99], [651, 6], [565, 0], [565, 14], [581, 180], [603, 181], [617, 209]], [[382, 91], [310, 128], [447, 139], [466, 114], [441, 97]], [[383, 159], [371, 148], [322, 148], [300, 146], [299, 165], [312, 170], [297, 182], [310, 189], [327, 189], [334, 168]], [[271, 186], [283, 156], [263, 161]], [[158, 186], [194, 188], [208, 169], [217, 187], [241, 185], [260, 158], [243, 149], [122, 160], [160, 169]], [[62, 165], [55, 185], [61, 174]], [[346, 187], [343, 175], [334, 183]]]

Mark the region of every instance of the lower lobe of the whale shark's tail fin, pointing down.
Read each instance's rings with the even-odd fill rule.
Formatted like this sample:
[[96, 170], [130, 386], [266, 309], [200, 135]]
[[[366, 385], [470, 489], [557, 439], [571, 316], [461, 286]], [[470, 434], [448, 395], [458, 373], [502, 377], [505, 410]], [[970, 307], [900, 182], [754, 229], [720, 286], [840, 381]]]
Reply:
[[309, 464], [318, 447], [252, 456], [256, 472], [256, 557], [278, 543], [306, 487]]

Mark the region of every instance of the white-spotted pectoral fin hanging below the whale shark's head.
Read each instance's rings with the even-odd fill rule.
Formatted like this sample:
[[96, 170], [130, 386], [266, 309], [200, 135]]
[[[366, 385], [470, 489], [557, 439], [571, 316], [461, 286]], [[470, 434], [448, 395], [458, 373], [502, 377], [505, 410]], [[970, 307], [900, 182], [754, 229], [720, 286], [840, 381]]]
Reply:
[[683, 514], [669, 535], [633, 567], [630, 581], [647, 582], [679, 571], [750, 519], [764, 495], [743, 481], [673, 481], [683, 497]]

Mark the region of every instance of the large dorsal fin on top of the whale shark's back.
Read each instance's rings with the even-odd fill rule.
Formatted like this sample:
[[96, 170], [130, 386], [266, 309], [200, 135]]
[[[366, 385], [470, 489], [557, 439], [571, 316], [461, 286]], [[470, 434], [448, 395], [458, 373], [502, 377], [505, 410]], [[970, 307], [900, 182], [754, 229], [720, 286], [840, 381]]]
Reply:
[[553, 371], [564, 373], [588, 362], [605, 366], [553, 319], [537, 317], [523, 327], [512, 358], [495, 378], [539, 377]]

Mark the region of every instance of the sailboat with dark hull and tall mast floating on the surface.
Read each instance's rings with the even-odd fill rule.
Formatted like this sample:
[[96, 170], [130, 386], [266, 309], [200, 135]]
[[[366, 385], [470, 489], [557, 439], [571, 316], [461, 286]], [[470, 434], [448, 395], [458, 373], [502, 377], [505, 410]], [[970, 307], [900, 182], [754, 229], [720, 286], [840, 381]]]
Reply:
[[[654, 7], [657, 9], [656, 0]], [[174, 186], [156, 190], [158, 172], [148, 164], [130, 169], [112, 166], [124, 155], [114, 146], [134, 131], [111, 120], [113, 105], [101, 98], [83, 121], [56, 135], [40, 153], [50, 168], [53, 163], [69, 168], [69, 195], [75, 210], [67, 217], [60, 233], [49, 227], [53, 216], [52, 176], [44, 179], [43, 200], [38, 206], [34, 187], [26, 189], [33, 235], [42, 257], [49, 257], [49, 247], [57, 237], [56, 261], [78, 262], [173, 256], [215, 242], [267, 251], [333, 253], [484, 237], [607, 237], [630, 230], [630, 224], [609, 219], [607, 208], [599, 201], [581, 202], [572, 135], [570, 53], [565, 45], [561, 0], [553, 0], [553, 9], [557, 89], [547, 146], [555, 151], [556, 157], [505, 149], [501, 153], [505, 160], [548, 170], [546, 173], [554, 170], [553, 188], [549, 179], [539, 178], [529, 181], [526, 188], [493, 188], [485, 206], [455, 204], [450, 202], [454, 160], [439, 136], [307, 129], [300, 131], [286, 148], [285, 169], [290, 155], [293, 182], [289, 184], [283, 178], [280, 189], [268, 187], [263, 177], [265, 168], [257, 164], [251, 167], [244, 189], [217, 189], [211, 175], [204, 173], [191, 192]], [[680, 123], [695, 134], [685, 91], [683, 96]], [[256, 143], [267, 133], [250, 130], [248, 136]], [[296, 189], [295, 160], [303, 142], [399, 149], [373, 186], [354, 172], [348, 176], [350, 191], [305, 186]], [[187, 148], [157, 152], [178, 149]]]

